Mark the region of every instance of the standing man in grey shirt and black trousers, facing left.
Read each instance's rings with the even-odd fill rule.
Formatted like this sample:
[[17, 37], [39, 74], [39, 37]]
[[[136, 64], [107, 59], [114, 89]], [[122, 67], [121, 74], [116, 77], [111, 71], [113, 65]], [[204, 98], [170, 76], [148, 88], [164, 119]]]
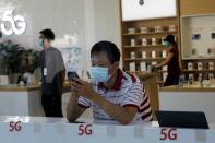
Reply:
[[61, 52], [51, 46], [55, 34], [51, 29], [39, 32], [38, 46], [41, 67], [41, 105], [46, 117], [63, 117], [61, 109], [64, 63]]

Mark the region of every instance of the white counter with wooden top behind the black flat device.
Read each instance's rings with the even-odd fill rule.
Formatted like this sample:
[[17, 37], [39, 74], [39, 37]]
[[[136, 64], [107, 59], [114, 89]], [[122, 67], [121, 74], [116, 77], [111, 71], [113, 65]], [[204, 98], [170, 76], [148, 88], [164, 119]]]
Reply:
[[215, 85], [183, 85], [159, 88], [160, 110], [204, 111], [210, 123], [215, 123]]

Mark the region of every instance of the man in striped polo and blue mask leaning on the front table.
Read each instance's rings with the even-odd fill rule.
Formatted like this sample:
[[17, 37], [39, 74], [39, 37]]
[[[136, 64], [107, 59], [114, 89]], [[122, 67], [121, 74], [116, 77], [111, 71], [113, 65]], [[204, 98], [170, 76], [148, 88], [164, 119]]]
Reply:
[[141, 123], [152, 121], [150, 98], [140, 80], [119, 69], [120, 51], [110, 41], [99, 41], [91, 50], [92, 83], [71, 82], [72, 95], [67, 107], [74, 122], [92, 107], [95, 123]]

